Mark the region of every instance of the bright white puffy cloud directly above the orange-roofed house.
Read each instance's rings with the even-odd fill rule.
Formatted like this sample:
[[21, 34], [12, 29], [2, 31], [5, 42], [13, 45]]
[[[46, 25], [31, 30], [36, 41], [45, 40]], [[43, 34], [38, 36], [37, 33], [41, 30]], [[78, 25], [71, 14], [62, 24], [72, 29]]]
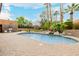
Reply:
[[11, 9], [10, 9], [10, 4], [9, 3], [3, 3], [3, 10], [0, 14], [0, 19], [5, 19], [5, 20], [12, 20], [11, 16], [13, 14], [10, 13]]

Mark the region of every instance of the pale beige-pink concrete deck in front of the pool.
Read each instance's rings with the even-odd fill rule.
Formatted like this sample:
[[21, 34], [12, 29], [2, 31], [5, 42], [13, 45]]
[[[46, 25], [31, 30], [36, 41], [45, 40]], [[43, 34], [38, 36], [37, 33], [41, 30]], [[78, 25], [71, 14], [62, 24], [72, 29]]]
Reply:
[[0, 56], [79, 56], [79, 43], [49, 45], [16, 33], [0, 33]]

